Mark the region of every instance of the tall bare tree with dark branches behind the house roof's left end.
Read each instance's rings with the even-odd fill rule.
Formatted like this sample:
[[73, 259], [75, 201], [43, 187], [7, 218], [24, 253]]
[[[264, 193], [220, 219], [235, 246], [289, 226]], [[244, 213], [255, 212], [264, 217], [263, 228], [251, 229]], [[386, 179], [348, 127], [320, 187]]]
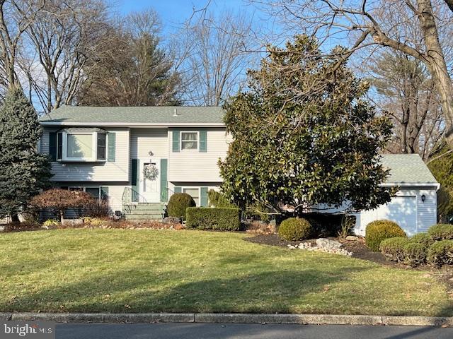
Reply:
[[23, 46], [18, 62], [30, 96], [45, 112], [74, 102], [90, 75], [86, 64], [93, 59], [97, 44], [109, 48], [101, 42], [107, 28], [103, 1], [45, 1], [26, 29], [29, 45]]

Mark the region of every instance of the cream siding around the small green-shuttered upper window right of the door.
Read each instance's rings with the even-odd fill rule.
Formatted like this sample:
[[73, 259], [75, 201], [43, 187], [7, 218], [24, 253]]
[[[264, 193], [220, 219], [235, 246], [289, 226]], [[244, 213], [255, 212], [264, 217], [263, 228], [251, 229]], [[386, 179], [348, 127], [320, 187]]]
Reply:
[[[183, 129], [180, 131], [198, 131]], [[207, 151], [180, 150], [172, 152], [173, 130], [168, 133], [168, 181], [169, 182], [222, 182], [217, 162], [224, 159], [231, 137], [225, 129], [206, 129]]]

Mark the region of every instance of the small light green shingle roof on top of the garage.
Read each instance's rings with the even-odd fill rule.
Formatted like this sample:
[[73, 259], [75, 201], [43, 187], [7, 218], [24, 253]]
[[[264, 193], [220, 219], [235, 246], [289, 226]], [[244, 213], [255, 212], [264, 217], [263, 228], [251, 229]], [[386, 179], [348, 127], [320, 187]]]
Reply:
[[391, 184], [437, 184], [418, 154], [384, 154], [382, 165], [390, 169], [387, 182]]

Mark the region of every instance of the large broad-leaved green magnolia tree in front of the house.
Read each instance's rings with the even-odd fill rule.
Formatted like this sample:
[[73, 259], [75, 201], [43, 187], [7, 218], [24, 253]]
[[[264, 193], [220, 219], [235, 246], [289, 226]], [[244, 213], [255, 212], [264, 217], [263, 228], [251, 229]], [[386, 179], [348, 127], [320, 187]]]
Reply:
[[268, 47], [248, 90], [226, 102], [234, 141], [219, 162], [222, 189], [239, 206], [263, 203], [275, 213], [304, 212], [326, 203], [348, 210], [375, 208], [392, 190], [379, 152], [391, 121], [364, 100], [368, 84], [316, 40], [297, 36], [285, 49]]

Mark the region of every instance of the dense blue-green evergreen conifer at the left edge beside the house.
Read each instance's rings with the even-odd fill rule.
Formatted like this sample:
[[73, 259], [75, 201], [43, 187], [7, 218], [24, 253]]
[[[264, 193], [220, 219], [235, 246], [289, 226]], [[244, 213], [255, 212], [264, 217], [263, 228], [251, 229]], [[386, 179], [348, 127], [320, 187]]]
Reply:
[[18, 87], [0, 108], [0, 217], [17, 214], [49, 184], [50, 162], [38, 153], [42, 134], [38, 114]]

